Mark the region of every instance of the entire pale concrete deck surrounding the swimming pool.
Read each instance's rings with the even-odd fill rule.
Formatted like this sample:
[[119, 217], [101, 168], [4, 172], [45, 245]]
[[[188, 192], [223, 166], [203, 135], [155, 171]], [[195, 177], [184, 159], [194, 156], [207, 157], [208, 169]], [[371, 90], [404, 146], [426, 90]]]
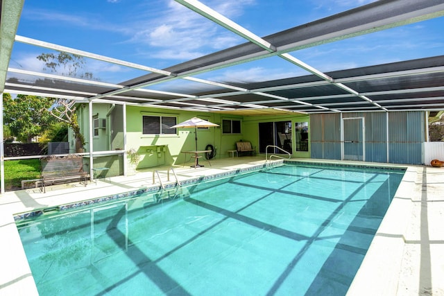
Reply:
[[[407, 168], [402, 183], [350, 286], [348, 295], [444, 295], [444, 168], [325, 159], [291, 159], [302, 162], [395, 166]], [[179, 180], [215, 175], [264, 164], [264, 156], [214, 159], [203, 168], [174, 166]], [[0, 295], [38, 295], [15, 226], [15, 214], [105, 195], [159, 186], [153, 171], [167, 184], [169, 167], [156, 167], [133, 176], [99, 180], [86, 187], [71, 183], [0, 195]], [[171, 171], [170, 171], [171, 173]], [[174, 177], [170, 175], [170, 182]]]

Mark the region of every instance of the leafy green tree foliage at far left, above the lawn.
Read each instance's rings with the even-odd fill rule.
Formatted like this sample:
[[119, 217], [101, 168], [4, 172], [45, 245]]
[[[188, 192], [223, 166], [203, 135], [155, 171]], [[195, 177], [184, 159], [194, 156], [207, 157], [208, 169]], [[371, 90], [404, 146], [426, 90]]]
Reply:
[[40, 110], [49, 110], [53, 101], [53, 98], [42, 96], [19, 94], [12, 98], [9, 94], [3, 94], [3, 123], [7, 125], [10, 135], [30, 143], [33, 137], [42, 134], [56, 119], [49, 112]]

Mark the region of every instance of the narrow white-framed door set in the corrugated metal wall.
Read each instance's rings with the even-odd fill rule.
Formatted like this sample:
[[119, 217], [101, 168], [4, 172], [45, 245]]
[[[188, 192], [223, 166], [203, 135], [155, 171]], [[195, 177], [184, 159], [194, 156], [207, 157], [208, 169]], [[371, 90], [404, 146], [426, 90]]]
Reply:
[[343, 120], [343, 160], [365, 161], [364, 118], [345, 118]]

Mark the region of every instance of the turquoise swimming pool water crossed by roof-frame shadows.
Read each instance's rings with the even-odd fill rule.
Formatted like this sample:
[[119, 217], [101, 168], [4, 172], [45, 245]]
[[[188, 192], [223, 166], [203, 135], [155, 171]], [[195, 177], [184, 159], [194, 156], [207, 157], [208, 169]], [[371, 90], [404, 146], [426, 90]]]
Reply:
[[17, 227], [40, 295], [345, 295], [403, 174], [284, 165]]

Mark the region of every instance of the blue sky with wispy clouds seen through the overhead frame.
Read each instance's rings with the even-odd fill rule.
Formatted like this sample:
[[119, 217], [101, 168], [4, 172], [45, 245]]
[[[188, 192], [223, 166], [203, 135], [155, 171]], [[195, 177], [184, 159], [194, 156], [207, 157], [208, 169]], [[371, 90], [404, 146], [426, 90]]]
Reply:
[[[372, 1], [202, 2], [264, 37]], [[444, 28], [443, 17], [291, 54], [321, 71], [425, 58], [444, 53], [440, 28]], [[245, 42], [234, 33], [170, 0], [27, 0], [17, 34], [157, 69]], [[43, 65], [35, 57], [48, 52], [49, 49], [16, 42], [10, 67], [42, 71]], [[110, 82], [121, 82], [146, 73], [93, 60], [87, 61], [85, 71], [92, 71], [97, 79]], [[257, 81], [305, 74], [294, 65], [270, 58], [198, 77]]]

